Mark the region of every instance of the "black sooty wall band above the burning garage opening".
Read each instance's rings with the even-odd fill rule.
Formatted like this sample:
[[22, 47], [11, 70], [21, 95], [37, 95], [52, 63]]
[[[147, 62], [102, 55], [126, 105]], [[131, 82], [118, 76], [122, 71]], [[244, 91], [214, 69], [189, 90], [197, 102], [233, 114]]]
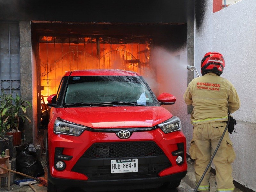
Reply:
[[0, 20], [186, 23], [189, 7], [187, 0], [8, 0], [0, 1]]

